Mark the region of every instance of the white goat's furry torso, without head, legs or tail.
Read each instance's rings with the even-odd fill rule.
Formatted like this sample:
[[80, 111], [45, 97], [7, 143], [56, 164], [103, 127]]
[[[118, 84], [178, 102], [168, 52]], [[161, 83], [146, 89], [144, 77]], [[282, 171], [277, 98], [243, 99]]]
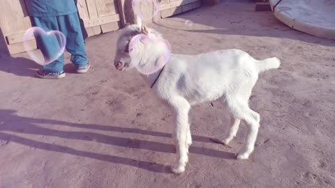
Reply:
[[191, 104], [216, 100], [244, 83], [254, 84], [258, 78], [255, 61], [239, 49], [174, 54], [158, 84], [165, 87], [162, 95], [181, 95]]

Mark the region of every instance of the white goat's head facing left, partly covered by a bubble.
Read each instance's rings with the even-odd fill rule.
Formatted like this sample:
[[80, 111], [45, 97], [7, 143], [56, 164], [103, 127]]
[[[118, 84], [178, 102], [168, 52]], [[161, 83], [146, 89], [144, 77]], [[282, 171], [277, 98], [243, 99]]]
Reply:
[[170, 45], [161, 33], [143, 24], [128, 25], [121, 30], [117, 40], [114, 65], [121, 71], [136, 67], [148, 75], [165, 65], [170, 52]]

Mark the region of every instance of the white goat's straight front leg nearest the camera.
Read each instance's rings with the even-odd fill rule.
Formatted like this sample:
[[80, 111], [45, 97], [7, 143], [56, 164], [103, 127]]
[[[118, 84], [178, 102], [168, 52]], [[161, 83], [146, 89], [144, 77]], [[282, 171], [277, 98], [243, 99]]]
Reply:
[[190, 104], [186, 100], [181, 100], [174, 107], [176, 128], [173, 139], [177, 149], [177, 159], [174, 165], [171, 166], [173, 173], [183, 173], [188, 162], [188, 146], [191, 145], [190, 125], [188, 124], [188, 111], [190, 108]]

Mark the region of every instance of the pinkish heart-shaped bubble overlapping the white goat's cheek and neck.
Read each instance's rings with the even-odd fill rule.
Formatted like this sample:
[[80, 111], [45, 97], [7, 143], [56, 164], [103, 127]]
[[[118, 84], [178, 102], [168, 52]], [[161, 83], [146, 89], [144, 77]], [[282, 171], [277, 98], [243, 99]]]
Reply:
[[[135, 52], [135, 47], [142, 47], [140, 53]], [[144, 75], [150, 75], [163, 68], [171, 56], [171, 45], [168, 40], [149, 38], [144, 34], [134, 36], [129, 42], [129, 49], [131, 57], [135, 58], [135, 60], [132, 59], [130, 67], [137, 68], [137, 71]], [[140, 65], [140, 61], [149, 61], [149, 63]]]

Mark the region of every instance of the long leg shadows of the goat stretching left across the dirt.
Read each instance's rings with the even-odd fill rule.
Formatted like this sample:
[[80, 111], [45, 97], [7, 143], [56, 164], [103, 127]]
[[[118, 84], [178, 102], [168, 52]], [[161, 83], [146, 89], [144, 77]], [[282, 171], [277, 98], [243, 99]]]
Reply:
[[[140, 169], [146, 169], [148, 171], [154, 171], [159, 173], [170, 173], [168, 170], [169, 166], [163, 164], [157, 164], [155, 162], [143, 162], [136, 159], [130, 159], [127, 157], [118, 157], [112, 155], [102, 155], [95, 152], [87, 152], [82, 150], [76, 150], [75, 148], [70, 148], [67, 146], [59, 146], [53, 143], [44, 143], [41, 141], [34, 141], [32, 139], [26, 139], [15, 134], [9, 134], [8, 132], [21, 133], [21, 134], [35, 134], [43, 136], [57, 136], [64, 139], [75, 139], [82, 141], [95, 141], [99, 143], [106, 143], [112, 146], [120, 146], [125, 148], [137, 148], [142, 150], [151, 150], [155, 152], [174, 152], [174, 146], [167, 143], [158, 143], [155, 141], [146, 141], [140, 139], [126, 139], [117, 136], [109, 136], [105, 134], [97, 134], [93, 132], [74, 132], [74, 131], [61, 131], [61, 130], [51, 130], [43, 125], [59, 125], [59, 126], [68, 126], [68, 127], [80, 127], [84, 129], [91, 130], [103, 130], [106, 132], [128, 132], [135, 134], [145, 134], [150, 136], [163, 136], [171, 137], [170, 134], [164, 132], [153, 132], [147, 130], [140, 130], [137, 128], [130, 127], [114, 127], [110, 125], [96, 125], [96, 124], [77, 124], [77, 123], [68, 123], [59, 120], [47, 120], [39, 118], [27, 118], [16, 115], [16, 111], [1, 109], [0, 110], [0, 140], [8, 142], [20, 143], [25, 146], [30, 146], [33, 148], [38, 148], [41, 150], [49, 150], [54, 152], [67, 153], [70, 155], [76, 155], [80, 157], [89, 157], [91, 159], [98, 159], [106, 162], [113, 162], [117, 164], [125, 164], [128, 166], [135, 166]], [[38, 124], [38, 126], [36, 126]], [[205, 141], [211, 142], [209, 138], [204, 136], [193, 136], [194, 141]], [[191, 146], [191, 153], [205, 155], [209, 157], [218, 157], [224, 159], [234, 159], [234, 154], [230, 152], [212, 150], [209, 148], [200, 148], [196, 146]]]

